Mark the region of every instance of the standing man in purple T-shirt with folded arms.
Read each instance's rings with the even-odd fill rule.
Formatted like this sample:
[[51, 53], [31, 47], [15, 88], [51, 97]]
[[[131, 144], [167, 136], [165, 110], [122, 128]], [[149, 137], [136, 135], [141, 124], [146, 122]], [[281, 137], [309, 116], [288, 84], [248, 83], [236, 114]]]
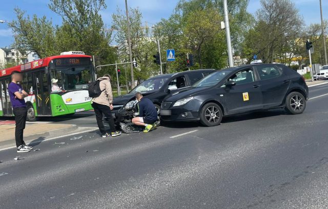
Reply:
[[22, 82], [23, 76], [18, 71], [11, 73], [11, 83], [8, 86], [10, 102], [16, 121], [15, 139], [17, 152], [30, 152], [33, 148], [25, 144], [23, 140], [23, 132], [26, 124], [27, 110], [24, 98], [28, 94], [24, 91], [22, 85], [17, 82]]

